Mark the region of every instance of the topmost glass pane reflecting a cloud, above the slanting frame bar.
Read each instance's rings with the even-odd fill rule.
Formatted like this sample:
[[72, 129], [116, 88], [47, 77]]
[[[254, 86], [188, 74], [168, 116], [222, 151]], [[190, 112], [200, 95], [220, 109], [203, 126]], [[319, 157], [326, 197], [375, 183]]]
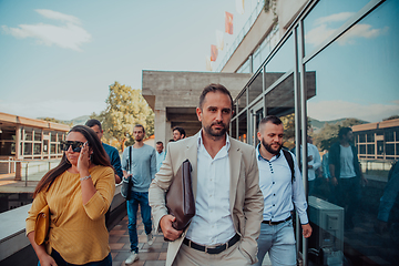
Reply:
[[[325, 0], [317, 3], [304, 20], [305, 54], [330, 38], [370, 0]], [[360, 29], [359, 29], [360, 30]]]

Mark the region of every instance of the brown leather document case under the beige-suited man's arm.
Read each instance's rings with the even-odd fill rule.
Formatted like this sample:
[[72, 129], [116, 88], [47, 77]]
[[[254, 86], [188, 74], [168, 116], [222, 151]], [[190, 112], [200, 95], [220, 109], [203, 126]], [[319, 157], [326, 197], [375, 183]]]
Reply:
[[195, 215], [195, 200], [192, 187], [192, 165], [188, 160], [178, 167], [172, 184], [166, 192], [168, 214], [176, 217], [172, 226], [177, 231], [185, 229]]

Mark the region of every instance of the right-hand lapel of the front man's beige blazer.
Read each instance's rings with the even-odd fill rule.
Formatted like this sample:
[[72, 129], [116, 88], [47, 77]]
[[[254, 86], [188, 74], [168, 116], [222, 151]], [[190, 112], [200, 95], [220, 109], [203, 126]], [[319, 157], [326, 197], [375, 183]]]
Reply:
[[233, 214], [233, 207], [237, 195], [237, 183], [241, 172], [242, 152], [236, 145], [235, 140], [231, 140], [231, 149], [228, 151], [229, 171], [231, 171], [231, 184], [229, 184], [229, 207]]

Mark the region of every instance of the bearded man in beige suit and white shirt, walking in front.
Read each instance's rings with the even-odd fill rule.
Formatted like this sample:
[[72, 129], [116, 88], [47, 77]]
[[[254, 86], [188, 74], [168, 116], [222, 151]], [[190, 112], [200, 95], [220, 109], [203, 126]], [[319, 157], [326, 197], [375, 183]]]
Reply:
[[[163, 166], [150, 186], [155, 228], [171, 241], [166, 266], [252, 265], [263, 213], [255, 149], [227, 135], [233, 99], [225, 86], [207, 85], [196, 114], [202, 130], [167, 145]], [[165, 193], [186, 158], [193, 167], [195, 216], [187, 228], [176, 231]]]

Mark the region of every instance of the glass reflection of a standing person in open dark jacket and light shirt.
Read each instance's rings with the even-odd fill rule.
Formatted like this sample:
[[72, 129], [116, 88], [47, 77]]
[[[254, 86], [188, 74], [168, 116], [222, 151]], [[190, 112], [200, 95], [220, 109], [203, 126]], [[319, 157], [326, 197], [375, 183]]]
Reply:
[[350, 127], [341, 127], [339, 141], [329, 151], [328, 164], [331, 184], [335, 186], [337, 204], [345, 208], [345, 228], [354, 228], [354, 214], [360, 198], [360, 183], [367, 184], [352, 144], [354, 132]]

